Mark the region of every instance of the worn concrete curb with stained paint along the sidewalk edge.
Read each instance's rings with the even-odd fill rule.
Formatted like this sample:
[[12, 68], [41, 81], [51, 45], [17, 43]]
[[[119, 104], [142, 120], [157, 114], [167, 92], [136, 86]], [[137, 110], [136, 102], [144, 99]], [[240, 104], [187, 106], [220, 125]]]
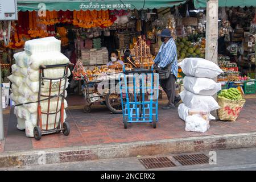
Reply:
[[129, 142], [3, 152], [0, 154], [0, 168], [32, 166], [84, 160], [127, 158], [135, 156], [178, 154], [209, 150], [225, 150], [256, 146], [256, 132], [226, 135], [209, 135], [177, 139], [154, 140], [149, 142]]

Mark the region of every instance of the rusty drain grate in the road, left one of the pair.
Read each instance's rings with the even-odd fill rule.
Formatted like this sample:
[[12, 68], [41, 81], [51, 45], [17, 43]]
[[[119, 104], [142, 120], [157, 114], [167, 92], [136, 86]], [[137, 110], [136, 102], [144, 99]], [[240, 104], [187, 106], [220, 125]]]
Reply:
[[141, 162], [146, 169], [165, 168], [165, 167], [175, 167], [176, 166], [167, 157], [139, 159], [139, 162]]

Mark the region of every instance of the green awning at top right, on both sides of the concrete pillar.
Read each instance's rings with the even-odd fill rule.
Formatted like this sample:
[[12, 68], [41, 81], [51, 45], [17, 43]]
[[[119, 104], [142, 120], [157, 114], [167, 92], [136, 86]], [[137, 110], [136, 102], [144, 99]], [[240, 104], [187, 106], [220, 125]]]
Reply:
[[[207, 7], [207, 0], [193, 0], [196, 9]], [[219, 7], [256, 6], [256, 0], [218, 0]]]

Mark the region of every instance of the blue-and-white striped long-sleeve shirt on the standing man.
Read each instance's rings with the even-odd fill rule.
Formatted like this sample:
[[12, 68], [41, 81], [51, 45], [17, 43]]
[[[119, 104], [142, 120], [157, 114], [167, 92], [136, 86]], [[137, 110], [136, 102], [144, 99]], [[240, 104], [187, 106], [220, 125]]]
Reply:
[[172, 63], [172, 74], [177, 78], [177, 49], [174, 39], [168, 40], [167, 43], [163, 43], [159, 49], [158, 55], [155, 57], [155, 64], [158, 64], [160, 68], [166, 67], [171, 61], [174, 60]]

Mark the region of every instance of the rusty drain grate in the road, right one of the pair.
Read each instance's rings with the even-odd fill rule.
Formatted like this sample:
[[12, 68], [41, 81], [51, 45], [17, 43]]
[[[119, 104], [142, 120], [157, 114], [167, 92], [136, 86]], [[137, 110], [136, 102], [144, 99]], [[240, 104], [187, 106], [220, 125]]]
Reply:
[[182, 166], [209, 163], [209, 157], [204, 154], [178, 155], [174, 159]]

